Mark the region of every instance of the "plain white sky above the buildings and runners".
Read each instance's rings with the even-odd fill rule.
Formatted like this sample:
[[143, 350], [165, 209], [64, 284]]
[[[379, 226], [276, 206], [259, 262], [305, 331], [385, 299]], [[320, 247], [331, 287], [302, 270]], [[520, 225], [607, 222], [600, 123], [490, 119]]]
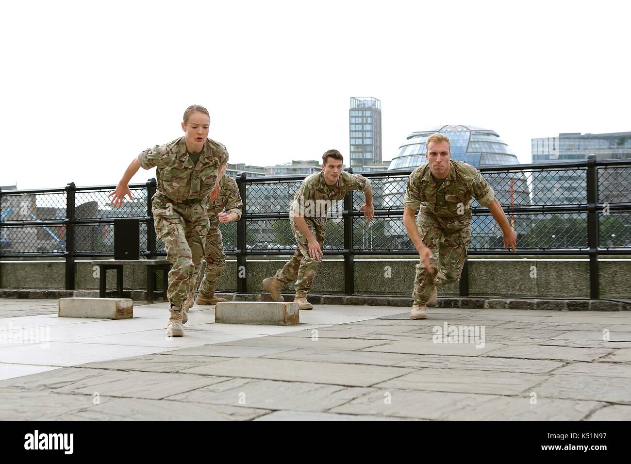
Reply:
[[[384, 160], [413, 131], [530, 140], [631, 130], [622, 2], [3, 2], [0, 185], [116, 184], [211, 114], [230, 162], [348, 165], [350, 97], [382, 100]], [[155, 170], [132, 182], [144, 182]]]

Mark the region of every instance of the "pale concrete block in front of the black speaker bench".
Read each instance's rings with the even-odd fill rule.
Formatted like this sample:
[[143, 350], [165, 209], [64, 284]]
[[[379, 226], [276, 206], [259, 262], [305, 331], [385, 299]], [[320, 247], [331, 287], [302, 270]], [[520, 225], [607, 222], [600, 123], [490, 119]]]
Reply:
[[134, 304], [128, 298], [60, 298], [60, 318], [128, 319]]

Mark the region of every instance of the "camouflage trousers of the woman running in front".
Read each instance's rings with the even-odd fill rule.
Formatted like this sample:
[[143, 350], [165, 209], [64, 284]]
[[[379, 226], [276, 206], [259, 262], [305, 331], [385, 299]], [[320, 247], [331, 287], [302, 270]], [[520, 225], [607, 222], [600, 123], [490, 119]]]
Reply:
[[158, 192], [151, 211], [156, 235], [164, 242], [167, 259], [173, 265], [168, 273], [167, 298], [173, 306], [181, 306], [194, 291], [201, 270], [208, 209], [202, 203], [183, 205]]

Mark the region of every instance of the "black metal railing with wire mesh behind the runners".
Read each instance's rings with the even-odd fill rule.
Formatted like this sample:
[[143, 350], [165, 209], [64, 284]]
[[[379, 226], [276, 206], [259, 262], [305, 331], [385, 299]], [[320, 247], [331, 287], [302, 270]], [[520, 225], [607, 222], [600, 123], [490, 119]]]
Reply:
[[[589, 256], [591, 297], [598, 297], [599, 254], [631, 253], [631, 159], [480, 167], [518, 234], [519, 254]], [[355, 256], [416, 255], [403, 226], [409, 170], [362, 172], [373, 187], [375, 218], [359, 211], [363, 194], [349, 193], [326, 224], [325, 255], [345, 261], [345, 293], [353, 294]], [[237, 176], [243, 214], [221, 224], [225, 251], [237, 258], [237, 291], [247, 289], [248, 256], [280, 256], [296, 249], [288, 209], [305, 175]], [[63, 257], [66, 289], [74, 289], [74, 260], [114, 255], [114, 219], [138, 218], [141, 253], [164, 256], [151, 214], [155, 179], [130, 186], [133, 200], [109, 206], [114, 186], [0, 191], [0, 257]], [[473, 200], [469, 254], [509, 254], [487, 208]], [[468, 294], [467, 266], [460, 282]]]

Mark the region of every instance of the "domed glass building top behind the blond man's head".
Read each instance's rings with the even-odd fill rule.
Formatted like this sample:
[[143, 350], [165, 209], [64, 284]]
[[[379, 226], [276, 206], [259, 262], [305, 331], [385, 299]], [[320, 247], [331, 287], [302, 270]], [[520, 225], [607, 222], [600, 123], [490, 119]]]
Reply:
[[399, 153], [392, 158], [388, 170], [414, 169], [424, 163], [425, 140], [435, 133], [442, 133], [451, 140], [452, 160], [464, 161], [472, 166], [519, 164], [517, 156], [500, 136], [490, 129], [476, 126], [435, 126], [411, 133], [399, 146]]

